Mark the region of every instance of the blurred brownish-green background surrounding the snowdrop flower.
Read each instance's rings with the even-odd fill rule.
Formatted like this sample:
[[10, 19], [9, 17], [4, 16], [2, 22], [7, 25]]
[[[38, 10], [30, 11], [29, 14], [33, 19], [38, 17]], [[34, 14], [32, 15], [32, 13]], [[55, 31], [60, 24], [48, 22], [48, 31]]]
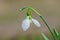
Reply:
[[45, 24], [34, 12], [31, 15], [41, 23], [41, 28], [31, 24], [26, 32], [22, 30], [21, 23], [26, 17], [26, 10], [20, 12], [19, 9], [25, 6], [35, 8], [45, 17], [51, 28], [60, 32], [60, 0], [0, 0], [1, 40], [44, 40], [40, 35], [42, 32], [53, 40]]

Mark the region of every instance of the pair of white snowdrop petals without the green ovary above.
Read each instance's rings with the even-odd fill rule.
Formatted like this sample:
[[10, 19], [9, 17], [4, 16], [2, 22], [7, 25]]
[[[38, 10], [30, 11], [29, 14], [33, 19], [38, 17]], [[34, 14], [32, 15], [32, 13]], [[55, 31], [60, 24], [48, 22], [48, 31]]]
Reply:
[[29, 27], [30, 27], [30, 23], [31, 22], [33, 22], [37, 27], [40, 27], [41, 25], [40, 25], [40, 23], [37, 21], [37, 20], [35, 20], [35, 19], [33, 19], [33, 18], [31, 18], [31, 19], [29, 19], [28, 17], [25, 19], [25, 20], [23, 20], [23, 22], [22, 22], [22, 29], [24, 30], [24, 31], [26, 31]]

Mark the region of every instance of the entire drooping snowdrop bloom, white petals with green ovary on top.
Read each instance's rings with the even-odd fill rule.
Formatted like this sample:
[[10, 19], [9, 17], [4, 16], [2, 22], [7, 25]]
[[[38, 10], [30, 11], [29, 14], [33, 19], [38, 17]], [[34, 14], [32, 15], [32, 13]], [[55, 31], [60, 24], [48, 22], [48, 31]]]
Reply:
[[31, 23], [34, 23], [37, 27], [41, 26], [40, 23], [36, 19], [31, 17], [30, 11], [28, 10], [27, 11], [27, 17], [22, 22], [22, 29], [24, 31], [26, 31], [30, 27]]

